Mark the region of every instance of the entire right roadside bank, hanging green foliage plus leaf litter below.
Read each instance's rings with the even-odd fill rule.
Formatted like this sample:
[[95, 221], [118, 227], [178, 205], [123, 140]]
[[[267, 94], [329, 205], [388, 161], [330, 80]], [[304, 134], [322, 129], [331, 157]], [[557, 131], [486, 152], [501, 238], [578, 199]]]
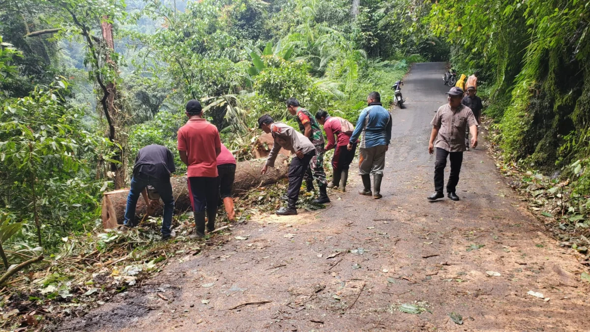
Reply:
[[588, 1], [444, 1], [425, 19], [451, 64], [479, 70], [500, 171], [586, 262], [590, 236]]

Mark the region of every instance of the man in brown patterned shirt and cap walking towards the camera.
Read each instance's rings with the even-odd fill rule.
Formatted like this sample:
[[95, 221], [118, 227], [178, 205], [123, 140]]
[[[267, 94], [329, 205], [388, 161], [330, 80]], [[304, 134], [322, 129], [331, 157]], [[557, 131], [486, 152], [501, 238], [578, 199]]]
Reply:
[[[447, 196], [451, 200], [458, 201], [455, 188], [459, 182], [459, 172], [463, 163], [463, 151], [466, 150], [466, 127], [471, 132], [471, 147], [477, 147], [477, 121], [470, 108], [461, 104], [463, 89], [451, 87], [447, 92], [448, 104], [438, 108], [432, 119], [432, 132], [428, 144], [428, 153], [433, 154], [437, 149], [434, 163], [434, 194], [428, 196], [431, 201], [444, 197], [444, 168], [447, 166], [447, 157], [451, 161], [451, 174], [447, 183]], [[436, 143], [434, 140], [437, 139]]]

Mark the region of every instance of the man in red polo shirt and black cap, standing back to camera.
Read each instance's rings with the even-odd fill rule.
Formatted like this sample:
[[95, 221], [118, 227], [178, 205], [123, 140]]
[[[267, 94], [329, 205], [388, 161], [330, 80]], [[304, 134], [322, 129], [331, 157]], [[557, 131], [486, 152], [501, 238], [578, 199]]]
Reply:
[[198, 100], [189, 101], [186, 103], [188, 122], [178, 129], [178, 152], [182, 162], [188, 166], [198, 237], [205, 236], [205, 214], [208, 217], [207, 230], [215, 230], [219, 196], [217, 156], [221, 153], [217, 127], [207, 122], [202, 115], [201, 103]]

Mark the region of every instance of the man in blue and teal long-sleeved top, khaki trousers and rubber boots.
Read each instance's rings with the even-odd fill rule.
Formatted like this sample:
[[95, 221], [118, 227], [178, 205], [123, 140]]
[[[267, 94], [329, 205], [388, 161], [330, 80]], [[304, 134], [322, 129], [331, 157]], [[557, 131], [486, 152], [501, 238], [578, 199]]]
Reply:
[[[381, 180], [385, 168], [385, 152], [391, 141], [391, 114], [381, 105], [378, 92], [371, 92], [367, 97], [368, 106], [360, 112], [355, 131], [350, 136], [348, 149], [360, 137], [359, 174], [364, 188], [359, 194], [373, 196], [376, 200], [381, 195]], [[373, 175], [373, 191], [371, 191], [371, 174]]]

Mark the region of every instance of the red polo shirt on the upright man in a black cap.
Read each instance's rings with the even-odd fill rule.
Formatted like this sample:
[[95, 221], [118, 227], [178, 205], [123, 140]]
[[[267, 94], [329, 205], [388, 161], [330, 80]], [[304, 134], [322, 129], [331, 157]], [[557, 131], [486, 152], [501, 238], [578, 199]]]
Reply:
[[186, 151], [188, 177], [217, 177], [221, 139], [217, 127], [205, 119], [190, 119], [178, 129], [178, 151]]

